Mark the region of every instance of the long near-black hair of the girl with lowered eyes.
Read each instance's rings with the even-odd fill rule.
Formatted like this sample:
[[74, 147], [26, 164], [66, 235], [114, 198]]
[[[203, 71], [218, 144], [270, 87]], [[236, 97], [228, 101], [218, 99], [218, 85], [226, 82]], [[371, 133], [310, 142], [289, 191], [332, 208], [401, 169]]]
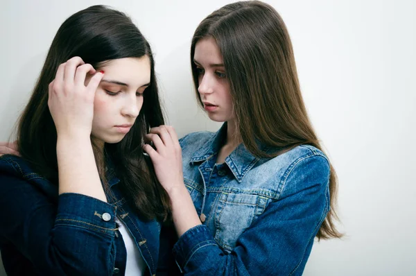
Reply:
[[91, 6], [71, 15], [60, 26], [46, 56], [31, 99], [17, 128], [17, 148], [33, 169], [58, 184], [56, 157], [57, 133], [48, 107], [48, 85], [58, 66], [74, 56], [99, 69], [105, 62], [119, 58], [150, 58], [150, 85], [144, 104], [128, 135], [116, 144], [105, 144], [105, 155], [94, 145], [98, 171], [108, 195], [105, 160], [114, 164], [120, 188], [130, 205], [147, 219], [164, 220], [170, 214], [170, 200], [157, 182], [150, 160], [141, 146], [153, 126], [164, 124], [155, 78], [155, 62], [150, 45], [137, 26], [123, 12], [106, 6]]

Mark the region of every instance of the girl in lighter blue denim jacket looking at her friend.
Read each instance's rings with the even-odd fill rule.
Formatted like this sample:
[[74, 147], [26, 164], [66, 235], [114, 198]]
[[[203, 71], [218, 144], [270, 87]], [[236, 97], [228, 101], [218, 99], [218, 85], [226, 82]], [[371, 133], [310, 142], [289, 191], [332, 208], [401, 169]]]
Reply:
[[[311, 126], [286, 26], [260, 1], [202, 20], [191, 68], [218, 132], [144, 146], [171, 198], [186, 275], [302, 275], [315, 237], [339, 238], [336, 174]], [[181, 158], [182, 148], [182, 158]], [[183, 173], [182, 173], [183, 169]]]

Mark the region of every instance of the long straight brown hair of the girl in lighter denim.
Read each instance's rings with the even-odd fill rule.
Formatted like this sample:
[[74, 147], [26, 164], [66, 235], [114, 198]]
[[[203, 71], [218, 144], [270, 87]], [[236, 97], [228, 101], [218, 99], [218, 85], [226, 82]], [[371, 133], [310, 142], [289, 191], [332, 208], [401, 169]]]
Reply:
[[[302, 144], [322, 150], [311, 126], [300, 92], [293, 47], [286, 25], [272, 6], [261, 1], [231, 3], [202, 20], [193, 35], [191, 69], [198, 89], [198, 69], [193, 62], [196, 43], [214, 37], [229, 82], [234, 104], [236, 130], [250, 153], [275, 157], [263, 152], [257, 141], [284, 151]], [[200, 104], [202, 101], [196, 91]], [[334, 222], [337, 178], [331, 166], [329, 180], [331, 209], [318, 239], [342, 236]]]

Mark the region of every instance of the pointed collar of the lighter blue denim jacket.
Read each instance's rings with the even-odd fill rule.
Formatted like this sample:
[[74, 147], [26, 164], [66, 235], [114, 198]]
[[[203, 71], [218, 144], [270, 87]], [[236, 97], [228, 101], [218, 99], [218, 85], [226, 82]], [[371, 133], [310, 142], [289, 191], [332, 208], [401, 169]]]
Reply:
[[[227, 135], [227, 123], [223, 123], [220, 130], [218, 130], [211, 139], [207, 141], [201, 148], [196, 150], [191, 157], [191, 164], [202, 162], [220, 151], [223, 141]], [[259, 145], [260, 146], [260, 145]], [[254, 164], [259, 161], [259, 157], [254, 157], [245, 148], [244, 144], [239, 144], [233, 152], [225, 158], [225, 163], [232, 171], [234, 177], [238, 182], [241, 182], [244, 176], [252, 169]]]

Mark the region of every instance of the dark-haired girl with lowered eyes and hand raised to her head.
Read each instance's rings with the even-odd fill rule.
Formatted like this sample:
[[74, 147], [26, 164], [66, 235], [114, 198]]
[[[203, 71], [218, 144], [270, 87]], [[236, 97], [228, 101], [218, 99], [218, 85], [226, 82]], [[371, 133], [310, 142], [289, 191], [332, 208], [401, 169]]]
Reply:
[[155, 275], [170, 202], [142, 145], [163, 123], [130, 18], [92, 6], [64, 21], [19, 121], [21, 157], [0, 157], [6, 273]]

